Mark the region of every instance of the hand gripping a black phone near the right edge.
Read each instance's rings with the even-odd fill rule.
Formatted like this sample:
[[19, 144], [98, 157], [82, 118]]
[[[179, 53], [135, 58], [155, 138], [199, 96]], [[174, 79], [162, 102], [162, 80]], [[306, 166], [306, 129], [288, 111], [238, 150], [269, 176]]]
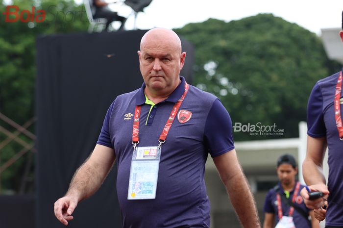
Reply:
[[327, 186], [323, 183], [320, 183], [320, 184], [310, 185], [308, 186], [308, 188], [311, 190], [311, 192], [322, 192], [324, 196], [316, 200], [309, 200], [309, 192], [307, 191], [306, 188], [303, 188], [300, 192], [300, 195], [304, 199], [305, 205], [310, 209], [320, 208], [325, 203], [325, 199], [327, 199], [329, 195]]

